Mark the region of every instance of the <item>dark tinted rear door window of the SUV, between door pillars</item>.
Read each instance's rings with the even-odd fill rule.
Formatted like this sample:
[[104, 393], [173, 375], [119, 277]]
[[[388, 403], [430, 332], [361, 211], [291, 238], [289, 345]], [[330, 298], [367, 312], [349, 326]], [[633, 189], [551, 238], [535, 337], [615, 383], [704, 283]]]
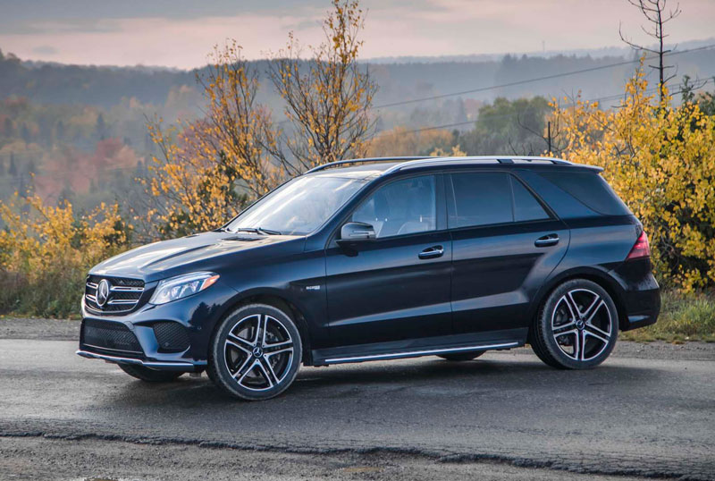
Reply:
[[548, 219], [524, 184], [508, 173], [453, 173], [450, 228]]

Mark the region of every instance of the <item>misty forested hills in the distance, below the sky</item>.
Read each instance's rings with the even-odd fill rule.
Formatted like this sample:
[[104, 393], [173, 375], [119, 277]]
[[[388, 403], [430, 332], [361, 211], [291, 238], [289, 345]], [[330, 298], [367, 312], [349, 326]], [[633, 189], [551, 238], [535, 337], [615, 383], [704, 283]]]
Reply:
[[[679, 48], [702, 45], [706, 42]], [[421, 148], [407, 142], [406, 154], [454, 146], [469, 154], [539, 153], [545, 148], [537, 134], [551, 108], [548, 99], [581, 91], [587, 99], [609, 97], [606, 105], [615, 104], [636, 66], [627, 63], [635, 54], [627, 55], [631, 56], [506, 55], [364, 63], [379, 86], [374, 98], [376, 135], [400, 126], [393, 134], [408, 139], [411, 131], [427, 128], [443, 144], [427, 141], [432, 139], [427, 135], [427, 140], [416, 139], [425, 144]], [[679, 77], [715, 76], [715, 48], [674, 55], [669, 62], [677, 65]], [[267, 69], [265, 61], [252, 66], [264, 74]], [[582, 70], [589, 72], [563, 75]], [[0, 200], [14, 191], [35, 192], [43, 198], [68, 198], [78, 208], [89, 209], [113, 198], [140, 198], [143, 190], [135, 179], [149, 174], [147, 165], [156, 154], [147, 118], [162, 117], [172, 124], [200, 114], [204, 98], [197, 74], [200, 69], [35, 63], [0, 53]], [[525, 81], [547, 76], [554, 77]], [[671, 81], [673, 91], [680, 82]], [[707, 87], [711, 90], [712, 82]], [[447, 95], [454, 92], [461, 93]], [[436, 98], [422, 101], [425, 97]], [[528, 100], [509, 102], [504, 97]], [[259, 100], [273, 110], [276, 121], [283, 120], [282, 100], [265, 75]], [[290, 129], [290, 124], [282, 127]], [[388, 135], [375, 148], [394, 154], [398, 143]]]

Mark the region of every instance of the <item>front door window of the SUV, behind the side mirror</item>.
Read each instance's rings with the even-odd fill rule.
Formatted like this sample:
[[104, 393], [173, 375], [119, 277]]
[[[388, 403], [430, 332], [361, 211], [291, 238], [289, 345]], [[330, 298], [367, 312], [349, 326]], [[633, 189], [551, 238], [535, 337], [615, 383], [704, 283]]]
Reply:
[[352, 215], [374, 227], [376, 238], [433, 231], [437, 225], [433, 175], [391, 182], [376, 190]]

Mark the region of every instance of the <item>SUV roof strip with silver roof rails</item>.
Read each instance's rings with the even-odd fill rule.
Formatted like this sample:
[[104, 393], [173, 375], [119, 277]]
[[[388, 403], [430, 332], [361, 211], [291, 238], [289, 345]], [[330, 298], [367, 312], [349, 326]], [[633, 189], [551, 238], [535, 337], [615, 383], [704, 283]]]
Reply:
[[601, 171], [601, 167], [592, 165], [575, 164], [556, 157], [541, 156], [462, 156], [462, 157], [370, 157], [339, 160], [309, 170], [307, 173], [316, 173], [333, 169], [340, 169], [341, 173], [362, 172], [366, 176], [376, 176], [401, 170], [430, 166], [457, 166], [457, 165], [553, 165], [586, 167]]

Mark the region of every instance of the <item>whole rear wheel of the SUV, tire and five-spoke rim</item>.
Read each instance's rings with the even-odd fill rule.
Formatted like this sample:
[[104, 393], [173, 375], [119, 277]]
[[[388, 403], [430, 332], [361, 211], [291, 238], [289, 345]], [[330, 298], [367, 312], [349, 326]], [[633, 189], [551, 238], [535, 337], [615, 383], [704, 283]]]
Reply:
[[562, 283], [544, 301], [530, 335], [539, 359], [560, 369], [589, 369], [606, 360], [618, 339], [618, 309], [599, 284]]

